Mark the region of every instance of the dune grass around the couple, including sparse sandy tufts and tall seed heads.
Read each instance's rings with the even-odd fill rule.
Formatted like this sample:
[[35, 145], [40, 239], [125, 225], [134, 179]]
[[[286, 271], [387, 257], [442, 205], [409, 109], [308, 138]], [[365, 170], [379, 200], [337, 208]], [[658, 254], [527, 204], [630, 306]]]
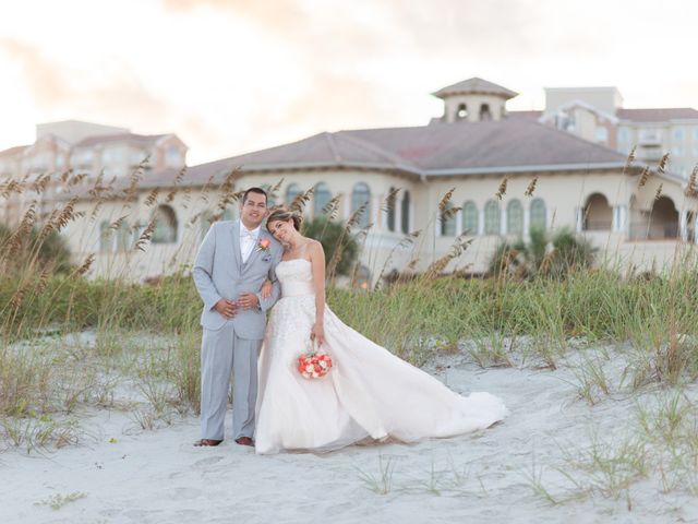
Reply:
[[[239, 191], [228, 178], [225, 184], [210, 189], [209, 198], [219, 202], [212, 209], [221, 211], [221, 204], [234, 202]], [[308, 193], [296, 204], [302, 207]], [[448, 198], [440, 210], [447, 209]], [[148, 199], [154, 200], [148, 205], [156, 199]], [[80, 418], [91, 407], [129, 412], [134, 430], [198, 412], [201, 300], [189, 270], [149, 284], [135, 283], [127, 273], [87, 278], [88, 257], [75, 266], [62, 261], [57, 271], [38, 253], [50, 233], [72, 221], [70, 205], [32, 237], [34, 243], [20, 241], [36, 222], [32, 215], [0, 241], [5, 270], [0, 274], [0, 450], [15, 446], [33, 453], [79, 443], [89, 438]], [[361, 245], [366, 231], [358, 223], [352, 216], [340, 238]], [[152, 222], [134, 250], [147, 249], [154, 229]], [[413, 234], [405, 242], [417, 238]], [[603, 355], [577, 360], [578, 396], [591, 405], [621, 391], [679, 391], [698, 377], [698, 308], [693, 299], [698, 264], [688, 251], [677, 249], [670, 271], [641, 276], [613, 264], [526, 277], [516, 272], [493, 278], [443, 276], [467, 249], [457, 239], [454, 250], [423, 274], [408, 282], [380, 282], [366, 291], [334, 285], [341, 246], [336, 249], [327, 253], [329, 307], [368, 338], [417, 366], [450, 352], [482, 367], [555, 369], [580, 341], [624, 348], [619, 383], [606, 373]], [[25, 263], [17, 263], [17, 257], [25, 257]], [[128, 400], [123, 391], [130, 392]], [[561, 466], [571, 483], [566, 492], [549, 490], [542, 469], [534, 466], [534, 493], [549, 503], [600, 495], [625, 496], [630, 504], [628, 486], [651, 469], [661, 472], [667, 491], [696, 491], [695, 409], [679, 396], [657, 398], [657, 405], [638, 407], [637, 437], [617, 445], [598, 440], [566, 455]], [[368, 489], [386, 495], [395, 490], [394, 469], [392, 460], [381, 458], [377, 474], [360, 472], [360, 477]], [[432, 467], [426, 480], [405, 489], [458, 492], [466, 474], [452, 473]]]

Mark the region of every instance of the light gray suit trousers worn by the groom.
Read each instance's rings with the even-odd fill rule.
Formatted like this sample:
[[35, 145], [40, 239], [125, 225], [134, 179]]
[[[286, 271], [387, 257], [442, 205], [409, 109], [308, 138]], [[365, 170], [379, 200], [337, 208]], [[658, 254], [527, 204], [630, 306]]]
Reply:
[[224, 440], [224, 421], [233, 372], [233, 438], [253, 437], [261, 340], [239, 338], [232, 322], [219, 330], [204, 327], [201, 347], [201, 436]]

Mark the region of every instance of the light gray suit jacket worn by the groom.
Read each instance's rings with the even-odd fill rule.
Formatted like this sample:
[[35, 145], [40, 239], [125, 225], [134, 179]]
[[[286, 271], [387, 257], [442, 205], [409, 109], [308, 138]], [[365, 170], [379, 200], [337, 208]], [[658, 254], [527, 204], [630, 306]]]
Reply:
[[[284, 249], [264, 228], [260, 239], [268, 238], [269, 248], [260, 250], [256, 246], [243, 264], [240, 254], [240, 221], [214, 223], [198, 248], [194, 262], [194, 284], [204, 301], [201, 325], [217, 331], [226, 322], [232, 322], [240, 338], [262, 340], [266, 326], [265, 311], [274, 306], [280, 295], [276, 279], [276, 265], [281, 260]], [[263, 300], [260, 289], [265, 278], [274, 284], [272, 296]], [[237, 300], [242, 293], [254, 293], [260, 299], [258, 309], [239, 310], [228, 320], [213, 309], [218, 300]]]

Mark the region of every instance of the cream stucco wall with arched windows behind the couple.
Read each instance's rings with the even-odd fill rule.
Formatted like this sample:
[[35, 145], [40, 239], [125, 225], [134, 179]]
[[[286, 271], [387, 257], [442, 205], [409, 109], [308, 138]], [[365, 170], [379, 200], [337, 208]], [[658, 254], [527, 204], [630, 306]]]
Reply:
[[[579, 228], [579, 213], [583, 210], [587, 199], [594, 193], [605, 196], [612, 209], [613, 224], [607, 231], [586, 231], [587, 236], [602, 252], [599, 260], [616, 261], [624, 264], [633, 263], [639, 267], [650, 267], [653, 263], [660, 266], [671, 260], [675, 240], [662, 241], [629, 241], [629, 224], [637, 219], [642, 210], [650, 210], [657, 189], [662, 183], [662, 193], [675, 203], [676, 210], [696, 210], [695, 199], [683, 194], [683, 188], [672, 181], [657, 177], [650, 178], [648, 183], [638, 190], [637, 176], [612, 172], [539, 172], [510, 176], [507, 190], [500, 203], [501, 230], [500, 235], [484, 235], [484, 206], [490, 200], [495, 200], [495, 193], [503, 180], [502, 175], [450, 177], [429, 179], [422, 181], [417, 177], [394, 175], [376, 171], [360, 170], [309, 170], [297, 172], [264, 172], [250, 174], [237, 180], [237, 188], [252, 186], [276, 184], [281, 178], [284, 182], [278, 192], [277, 203], [281, 203], [289, 184], [296, 183], [302, 190], [314, 187], [318, 182], [327, 184], [330, 193], [340, 195], [339, 218], [346, 221], [351, 213], [351, 191], [354, 184], [365, 182], [371, 189], [371, 216], [373, 227], [363, 243], [361, 263], [366, 266], [373, 277], [392, 269], [402, 270], [410, 261], [418, 260], [417, 270], [425, 270], [430, 263], [448, 253], [462, 231], [462, 212], [456, 215], [455, 235], [441, 235], [438, 202], [444, 194], [455, 188], [452, 202], [454, 206], [462, 206], [466, 201], [472, 201], [478, 207], [479, 234], [471, 237], [472, 245], [466, 252], [454, 260], [448, 271], [461, 269], [468, 272], [481, 273], [485, 271], [489, 260], [503, 239], [516, 240], [506, 229], [506, 210], [509, 202], [517, 199], [524, 207], [524, 231], [528, 233], [530, 223], [531, 198], [525, 192], [534, 176], [539, 177], [533, 198], [542, 199], [546, 210], [546, 226], [549, 229], [568, 227]], [[396, 213], [395, 231], [387, 228], [387, 214], [382, 207], [390, 188], [401, 188], [396, 207], [401, 209], [400, 202], [405, 194], [410, 194], [410, 227], [409, 231], [421, 230], [420, 236], [411, 245], [399, 247], [405, 238], [400, 231], [401, 216]], [[159, 195], [161, 202], [167, 194], [163, 190]], [[197, 216], [202, 212], [214, 212], [218, 194], [209, 191], [204, 194], [201, 188], [192, 188], [189, 193], [180, 191], [170, 203], [178, 218], [178, 241], [172, 245], [148, 245], [146, 252], [133, 251], [100, 251], [99, 224], [113, 223], [121, 216], [133, 226], [145, 227], [154, 212], [154, 206], [146, 206], [148, 192], [139, 194], [137, 201], [127, 203], [122, 201], [105, 202], [92, 217], [94, 204], [82, 202], [80, 209], [86, 213], [82, 221], [70, 225], [70, 246], [80, 262], [89, 253], [96, 253], [94, 275], [122, 275], [129, 278], [143, 279], [163, 273], [171, 273], [182, 265], [193, 262], [198, 243], [205, 228]], [[634, 215], [637, 215], [635, 216]], [[313, 203], [306, 204], [305, 214], [312, 216]], [[132, 243], [137, 238], [134, 233]]]

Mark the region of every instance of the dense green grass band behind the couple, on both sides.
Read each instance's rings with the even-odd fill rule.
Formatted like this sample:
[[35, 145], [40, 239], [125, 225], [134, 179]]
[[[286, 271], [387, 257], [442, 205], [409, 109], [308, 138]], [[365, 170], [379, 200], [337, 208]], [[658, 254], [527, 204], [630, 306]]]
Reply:
[[[417, 278], [375, 293], [329, 288], [328, 302], [346, 323], [397, 354], [429, 337], [457, 345], [496, 332], [532, 336], [552, 364], [569, 337], [629, 341], [652, 355], [657, 380], [676, 381], [684, 371], [698, 374], [693, 343], [698, 312], [691, 294], [684, 291], [696, 288], [698, 278], [694, 272], [674, 278], [673, 284], [671, 277], [624, 278], [603, 270], [522, 282]], [[13, 308], [20, 287], [29, 290]], [[33, 294], [37, 287], [40, 293]], [[201, 313], [201, 300], [184, 274], [148, 285], [41, 274], [28, 284], [0, 278], [0, 305], [5, 344], [47, 330], [91, 326], [104, 337], [119, 330], [194, 333]]]

